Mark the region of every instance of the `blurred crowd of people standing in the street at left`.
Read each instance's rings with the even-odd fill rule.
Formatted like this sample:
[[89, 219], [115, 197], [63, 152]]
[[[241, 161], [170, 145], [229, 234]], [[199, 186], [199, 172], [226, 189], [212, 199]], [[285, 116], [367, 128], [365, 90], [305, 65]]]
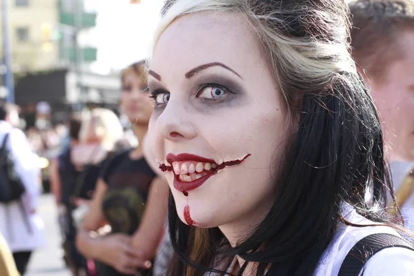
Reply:
[[[39, 121], [25, 127], [18, 106], [1, 105], [1, 124], [7, 126], [1, 133], [10, 132], [8, 142], [15, 163], [26, 162], [18, 173], [30, 201], [22, 206], [35, 210], [32, 201], [38, 202], [42, 191], [55, 196], [63, 259], [73, 275], [103, 275], [103, 271], [116, 275], [117, 270], [136, 274], [140, 266], [152, 266], [150, 260], [164, 234], [168, 186], [162, 183], [160, 188], [161, 180], [154, 172], [157, 165], [148, 164], [144, 154], [152, 112], [144, 61], [126, 68], [121, 82], [119, 115], [108, 108], [83, 108], [65, 124], [52, 125], [50, 108], [42, 103]], [[148, 199], [156, 214], [140, 225]], [[20, 208], [12, 206], [17, 204], [15, 200], [5, 203], [0, 208]], [[35, 211], [28, 215], [11, 212], [10, 217], [0, 216], [1, 234], [23, 275], [32, 252], [45, 245], [46, 237]], [[25, 224], [30, 227], [26, 229]], [[141, 235], [134, 236], [139, 227]], [[91, 233], [105, 238], [97, 242]], [[132, 246], [134, 242], [140, 249]], [[113, 250], [117, 247], [118, 251]]]

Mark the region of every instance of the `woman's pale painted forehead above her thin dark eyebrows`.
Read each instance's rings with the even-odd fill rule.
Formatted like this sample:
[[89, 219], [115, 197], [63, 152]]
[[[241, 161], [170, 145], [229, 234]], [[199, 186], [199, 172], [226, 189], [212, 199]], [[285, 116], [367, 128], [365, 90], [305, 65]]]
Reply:
[[257, 39], [238, 14], [200, 12], [176, 19], [161, 34], [150, 67], [164, 81], [210, 62], [224, 63], [240, 75], [262, 63]]

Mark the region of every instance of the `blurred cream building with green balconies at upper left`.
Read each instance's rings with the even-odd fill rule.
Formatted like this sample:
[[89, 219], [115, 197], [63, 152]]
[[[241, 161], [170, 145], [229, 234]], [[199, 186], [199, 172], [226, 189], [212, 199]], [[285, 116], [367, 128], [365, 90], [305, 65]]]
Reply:
[[14, 72], [67, 68], [77, 63], [84, 67], [96, 60], [97, 48], [79, 43], [79, 37], [95, 27], [97, 17], [96, 12], [85, 10], [83, 0], [2, 1], [8, 2]]

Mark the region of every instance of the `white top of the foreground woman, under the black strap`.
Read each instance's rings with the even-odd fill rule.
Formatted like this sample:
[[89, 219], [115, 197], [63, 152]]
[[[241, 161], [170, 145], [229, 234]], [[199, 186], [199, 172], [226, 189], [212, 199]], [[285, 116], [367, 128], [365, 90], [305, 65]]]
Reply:
[[[344, 204], [344, 217], [352, 224], [373, 224], [373, 221], [358, 215], [351, 206]], [[364, 237], [375, 233], [398, 235], [388, 226], [345, 226], [338, 230], [331, 245], [321, 257], [315, 276], [338, 275], [342, 262], [348, 252]], [[386, 248], [373, 255], [366, 263], [364, 276], [414, 276], [414, 251], [406, 248]], [[217, 273], [206, 273], [205, 276], [218, 276]]]

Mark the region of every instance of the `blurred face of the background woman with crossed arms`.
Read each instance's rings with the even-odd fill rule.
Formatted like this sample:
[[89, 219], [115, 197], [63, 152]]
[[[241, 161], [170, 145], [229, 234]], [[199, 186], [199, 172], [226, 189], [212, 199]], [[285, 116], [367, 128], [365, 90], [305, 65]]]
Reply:
[[132, 124], [148, 124], [152, 113], [148, 85], [132, 71], [122, 81], [121, 107]]

